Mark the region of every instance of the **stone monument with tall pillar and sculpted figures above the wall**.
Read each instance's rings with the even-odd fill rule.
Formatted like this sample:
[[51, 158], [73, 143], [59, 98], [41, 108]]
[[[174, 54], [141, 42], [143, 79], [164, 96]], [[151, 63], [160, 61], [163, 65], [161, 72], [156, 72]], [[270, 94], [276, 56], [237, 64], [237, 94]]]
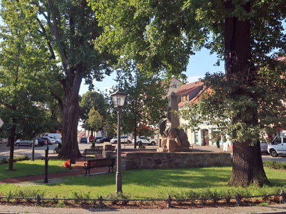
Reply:
[[187, 140], [187, 133], [183, 129], [178, 129], [180, 121], [174, 111], [178, 111], [178, 97], [172, 92], [169, 97], [168, 107], [168, 119], [170, 122], [167, 122], [167, 119], [160, 120], [159, 122], [161, 147], [157, 151], [190, 151], [190, 142]]

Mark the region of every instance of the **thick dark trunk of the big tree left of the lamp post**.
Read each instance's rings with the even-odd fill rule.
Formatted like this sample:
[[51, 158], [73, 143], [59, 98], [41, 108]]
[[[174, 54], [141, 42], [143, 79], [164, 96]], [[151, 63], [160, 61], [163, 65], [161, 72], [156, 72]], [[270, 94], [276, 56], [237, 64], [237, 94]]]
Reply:
[[82, 77], [77, 73], [74, 78], [67, 78], [64, 89], [62, 114], [62, 147], [59, 158], [81, 157], [77, 142], [77, 125], [79, 121], [79, 88]]

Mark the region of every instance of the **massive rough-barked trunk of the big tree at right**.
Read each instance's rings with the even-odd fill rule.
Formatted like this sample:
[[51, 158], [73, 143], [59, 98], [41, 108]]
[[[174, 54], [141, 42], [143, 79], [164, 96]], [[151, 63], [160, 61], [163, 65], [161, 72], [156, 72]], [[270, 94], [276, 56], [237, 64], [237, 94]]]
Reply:
[[[232, 0], [227, 0], [225, 6], [233, 10]], [[250, 1], [243, 8], [246, 12], [250, 10]], [[228, 81], [234, 83], [230, 96], [250, 96], [256, 100], [251, 93], [247, 92], [247, 85], [254, 86], [255, 67], [252, 63], [250, 47], [250, 22], [239, 21], [237, 17], [225, 19], [225, 73]], [[235, 109], [238, 114], [232, 118], [234, 123], [243, 121], [249, 126], [258, 125], [258, 112], [254, 107]], [[234, 133], [235, 135], [235, 133]], [[257, 136], [258, 140], [258, 136]], [[229, 185], [247, 186], [250, 183], [262, 186], [269, 181], [263, 169], [259, 142], [251, 146], [250, 142], [234, 142], [234, 156], [232, 176]]]

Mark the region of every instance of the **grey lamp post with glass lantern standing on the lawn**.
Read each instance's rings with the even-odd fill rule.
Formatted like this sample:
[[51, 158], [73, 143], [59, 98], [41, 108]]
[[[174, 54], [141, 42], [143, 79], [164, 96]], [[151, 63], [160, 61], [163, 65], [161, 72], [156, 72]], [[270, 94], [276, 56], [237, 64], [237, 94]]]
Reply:
[[121, 134], [120, 134], [120, 113], [124, 105], [125, 92], [118, 89], [116, 92], [110, 94], [112, 103], [117, 110], [117, 162], [116, 162], [116, 193], [122, 193], [122, 175], [121, 175]]

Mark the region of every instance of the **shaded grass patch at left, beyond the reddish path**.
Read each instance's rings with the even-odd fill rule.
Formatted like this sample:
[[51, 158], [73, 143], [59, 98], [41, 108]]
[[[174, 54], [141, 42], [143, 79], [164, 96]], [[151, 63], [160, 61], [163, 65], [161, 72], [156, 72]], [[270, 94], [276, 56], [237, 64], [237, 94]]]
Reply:
[[[48, 172], [57, 173], [66, 171], [63, 160], [49, 160]], [[0, 179], [17, 178], [28, 175], [43, 175], [45, 160], [23, 160], [14, 162], [14, 171], [8, 171], [8, 164], [0, 164]], [[1, 188], [0, 188], [1, 189]]]

